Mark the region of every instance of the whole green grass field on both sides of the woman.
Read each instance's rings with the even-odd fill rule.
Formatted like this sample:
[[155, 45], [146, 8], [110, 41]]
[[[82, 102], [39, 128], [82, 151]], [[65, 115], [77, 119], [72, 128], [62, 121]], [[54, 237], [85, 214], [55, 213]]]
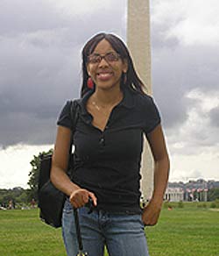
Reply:
[[[36, 209], [0, 211], [1, 256], [66, 255], [60, 229], [41, 223], [38, 215]], [[195, 203], [163, 209], [159, 224], [145, 232], [150, 256], [219, 256], [218, 210]]]

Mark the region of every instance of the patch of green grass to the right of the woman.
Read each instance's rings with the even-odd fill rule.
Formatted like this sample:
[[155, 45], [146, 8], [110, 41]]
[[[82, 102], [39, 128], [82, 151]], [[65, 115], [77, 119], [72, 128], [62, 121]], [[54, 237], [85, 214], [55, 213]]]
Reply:
[[218, 256], [219, 212], [209, 209], [162, 210], [159, 224], [146, 227], [151, 256]]

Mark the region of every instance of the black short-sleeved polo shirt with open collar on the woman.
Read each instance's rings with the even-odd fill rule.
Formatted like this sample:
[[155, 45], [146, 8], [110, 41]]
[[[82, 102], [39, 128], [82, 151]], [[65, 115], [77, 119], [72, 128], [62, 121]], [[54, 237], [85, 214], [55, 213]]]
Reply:
[[[74, 132], [74, 183], [95, 193], [98, 208], [110, 212], [139, 213], [139, 169], [143, 134], [160, 123], [152, 97], [124, 89], [124, 98], [112, 110], [105, 130], [92, 124], [86, 109], [93, 90], [78, 101], [80, 116]], [[58, 125], [72, 129], [70, 102]]]

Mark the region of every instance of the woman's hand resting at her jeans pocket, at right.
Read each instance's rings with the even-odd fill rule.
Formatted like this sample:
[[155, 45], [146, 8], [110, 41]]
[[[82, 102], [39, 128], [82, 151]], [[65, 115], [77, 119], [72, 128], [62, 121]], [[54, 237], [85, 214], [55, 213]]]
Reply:
[[162, 209], [162, 203], [150, 201], [143, 210], [142, 220], [145, 225], [155, 225], [159, 220], [159, 213]]

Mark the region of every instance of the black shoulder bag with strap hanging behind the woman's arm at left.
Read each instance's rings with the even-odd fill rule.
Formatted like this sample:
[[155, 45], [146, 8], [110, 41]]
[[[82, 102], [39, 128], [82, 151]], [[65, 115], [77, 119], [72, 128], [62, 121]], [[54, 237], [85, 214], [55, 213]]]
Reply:
[[[79, 115], [79, 105], [76, 101], [71, 103], [71, 118], [73, 122], [73, 127], [77, 122]], [[72, 142], [73, 134], [71, 138], [71, 145], [69, 147], [69, 161], [67, 174], [69, 175], [71, 169], [73, 168], [73, 157], [72, 157]], [[55, 228], [61, 226], [62, 210], [64, 207], [66, 195], [61, 192], [58, 188], [53, 186], [50, 180], [50, 171], [52, 165], [52, 154], [41, 155], [40, 166], [39, 166], [39, 186], [38, 186], [38, 196], [39, 196], [39, 217], [40, 219]]]

